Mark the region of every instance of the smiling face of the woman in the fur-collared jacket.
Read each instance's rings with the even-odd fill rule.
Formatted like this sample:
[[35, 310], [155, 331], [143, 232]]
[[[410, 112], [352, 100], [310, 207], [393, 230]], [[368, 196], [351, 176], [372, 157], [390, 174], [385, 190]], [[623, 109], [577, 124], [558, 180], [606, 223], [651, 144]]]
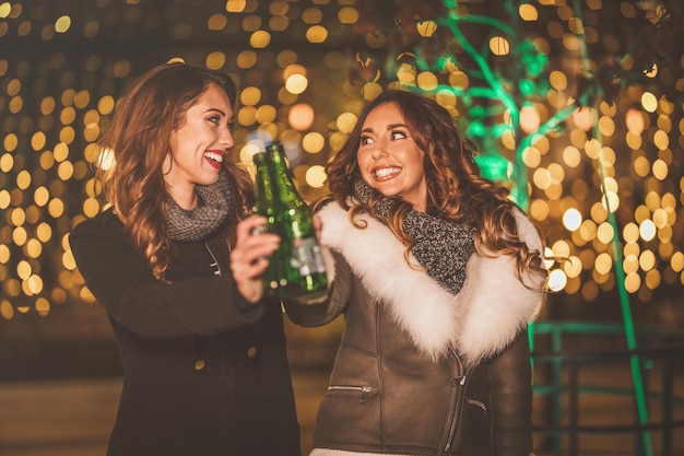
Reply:
[[417, 211], [427, 207], [423, 152], [394, 103], [373, 109], [362, 126], [356, 155], [361, 176], [386, 197], [398, 196]]

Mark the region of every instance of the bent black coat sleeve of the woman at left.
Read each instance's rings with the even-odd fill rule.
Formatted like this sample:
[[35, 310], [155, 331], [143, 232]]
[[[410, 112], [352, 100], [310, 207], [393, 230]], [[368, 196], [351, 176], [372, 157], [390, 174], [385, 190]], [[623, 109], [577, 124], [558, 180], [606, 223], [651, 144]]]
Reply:
[[262, 305], [240, 312], [229, 273], [170, 284], [155, 279], [111, 214], [82, 222], [69, 242], [95, 299], [110, 318], [139, 336], [210, 336], [253, 323], [263, 314]]

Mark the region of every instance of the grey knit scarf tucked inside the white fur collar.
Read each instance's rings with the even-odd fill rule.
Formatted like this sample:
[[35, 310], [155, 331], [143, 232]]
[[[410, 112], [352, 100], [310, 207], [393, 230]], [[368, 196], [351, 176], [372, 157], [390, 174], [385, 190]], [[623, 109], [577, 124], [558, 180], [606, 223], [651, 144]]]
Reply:
[[[387, 224], [396, 198], [382, 197], [365, 182], [354, 183], [356, 199], [367, 206], [374, 195], [376, 218]], [[429, 277], [452, 294], [458, 294], [465, 281], [465, 264], [475, 252], [475, 230], [459, 223], [439, 219], [416, 210], [410, 210], [403, 220], [404, 231], [413, 238], [411, 253]]]

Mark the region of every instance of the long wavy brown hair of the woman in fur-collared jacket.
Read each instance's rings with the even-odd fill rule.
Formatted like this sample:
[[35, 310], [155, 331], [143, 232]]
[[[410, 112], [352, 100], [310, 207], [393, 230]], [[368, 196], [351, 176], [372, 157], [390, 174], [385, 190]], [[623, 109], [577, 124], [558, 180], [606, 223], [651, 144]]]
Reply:
[[[517, 236], [516, 206], [508, 199], [508, 189], [481, 176], [474, 161], [474, 145], [459, 135], [449, 112], [427, 96], [391, 90], [364, 107], [346, 142], [326, 167], [331, 198], [351, 209], [352, 220], [358, 213], [374, 214], [373, 208], [382, 198], [379, 192], [374, 192], [367, 204], [350, 206], [350, 201], [356, 201], [354, 183], [362, 178], [356, 160], [362, 127], [373, 109], [387, 103], [399, 107], [413, 140], [425, 152], [426, 212], [474, 227], [477, 252], [515, 257], [518, 278], [524, 271], [545, 273], [542, 253], [530, 252]], [[398, 197], [394, 199], [397, 203], [387, 221], [394, 235], [408, 246], [408, 252], [413, 239], [403, 230], [402, 220], [412, 204]]]

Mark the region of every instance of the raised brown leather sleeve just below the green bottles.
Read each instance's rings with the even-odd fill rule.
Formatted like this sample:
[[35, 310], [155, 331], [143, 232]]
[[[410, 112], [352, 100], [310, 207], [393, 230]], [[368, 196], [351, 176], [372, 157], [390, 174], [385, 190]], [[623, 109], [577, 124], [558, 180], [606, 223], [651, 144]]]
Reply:
[[352, 287], [352, 271], [342, 255], [329, 252], [333, 261], [330, 266], [334, 269], [334, 278], [331, 279], [328, 288], [327, 299], [318, 304], [302, 304], [295, 301], [283, 303], [290, 319], [299, 326], [327, 325], [346, 309]]

